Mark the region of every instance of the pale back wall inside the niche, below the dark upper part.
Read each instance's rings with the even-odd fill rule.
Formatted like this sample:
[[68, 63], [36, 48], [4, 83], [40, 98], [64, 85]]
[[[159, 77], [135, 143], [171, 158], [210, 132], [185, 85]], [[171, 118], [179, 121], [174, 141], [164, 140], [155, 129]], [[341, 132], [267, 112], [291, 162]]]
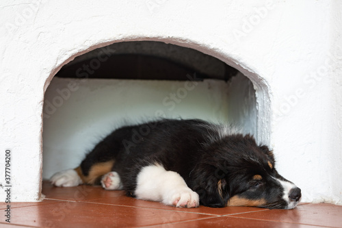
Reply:
[[[244, 97], [249, 96], [244, 91], [252, 89], [251, 86], [243, 75], [235, 83], [55, 77], [44, 99], [43, 178], [75, 168], [94, 144], [127, 123], [140, 123], [161, 115], [241, 123], [250, 114], [255, 122], [256, 113], [246, 109], [246, 105], [255, 103], [246, 103], [249, 99]], [[241, 107], [239, 99], [244, 103]], [[235, 112], [244, 110], [244, 116], [230, 117], [230, 107]], [[243, 127], [246, 131], [255, 130], [253, 125]]]

